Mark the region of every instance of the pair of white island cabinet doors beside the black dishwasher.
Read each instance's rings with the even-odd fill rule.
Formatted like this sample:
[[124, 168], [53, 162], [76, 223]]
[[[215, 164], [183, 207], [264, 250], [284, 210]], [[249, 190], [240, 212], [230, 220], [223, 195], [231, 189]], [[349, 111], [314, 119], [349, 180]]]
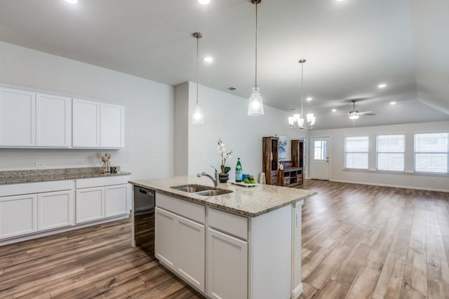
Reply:
[[203, 292], [205, 244], [203, 224], [156, 207], [156, 258]]

